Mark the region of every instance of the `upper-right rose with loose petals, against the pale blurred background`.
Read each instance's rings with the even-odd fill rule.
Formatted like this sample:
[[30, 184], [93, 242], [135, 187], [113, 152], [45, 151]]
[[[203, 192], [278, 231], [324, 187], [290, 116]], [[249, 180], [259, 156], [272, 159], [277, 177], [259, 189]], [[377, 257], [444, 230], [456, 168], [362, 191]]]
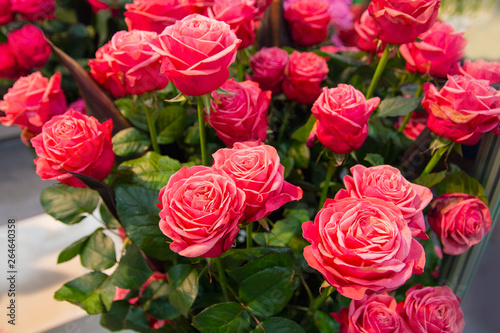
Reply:
[[446, 77], [457, 61], [465, 55], [467, 40], [463, 32], [455, 32], [446, 23], [436, 22], [420, 34], [421, 41], [404, 44], [399, 48], [410, 72]]

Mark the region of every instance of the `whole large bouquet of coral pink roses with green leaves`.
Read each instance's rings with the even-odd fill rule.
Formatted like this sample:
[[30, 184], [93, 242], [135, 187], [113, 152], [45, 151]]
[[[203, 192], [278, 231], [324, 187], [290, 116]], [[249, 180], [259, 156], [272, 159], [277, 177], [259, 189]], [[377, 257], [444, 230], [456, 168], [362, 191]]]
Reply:
[[112, 331], [463, 330], [443, 267], [492, 218], [454, 163], [500, 132], [500, 64], [439, 0], [0, 4], [0, 122], [49, 215], [102, 223], [57, 300]]

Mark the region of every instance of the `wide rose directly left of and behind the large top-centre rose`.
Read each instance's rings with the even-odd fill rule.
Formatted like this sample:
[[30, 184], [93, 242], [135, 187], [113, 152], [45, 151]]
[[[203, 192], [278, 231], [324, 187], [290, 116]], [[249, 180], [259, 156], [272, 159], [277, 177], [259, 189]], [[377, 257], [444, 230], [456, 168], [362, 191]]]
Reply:
[[150, 31], [118, 31], [89, 60], [90, 74], [114, 97], [165, 88], [168, 78], [160, 73], [160, 55], [149, 45], [156, 37]]

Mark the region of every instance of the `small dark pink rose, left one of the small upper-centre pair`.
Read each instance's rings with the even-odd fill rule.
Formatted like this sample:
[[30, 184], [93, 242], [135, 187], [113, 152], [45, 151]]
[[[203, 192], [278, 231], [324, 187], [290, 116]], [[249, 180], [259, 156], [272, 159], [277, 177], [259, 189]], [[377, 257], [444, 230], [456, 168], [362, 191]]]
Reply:
[[273, 95], [281, 92], [281, 82], [285, 77], [288, 52], [277, 46], [263, 47], [250, 56], [249, 65], [254, 75], [250, 78], [263, 90], [271, 90]]

